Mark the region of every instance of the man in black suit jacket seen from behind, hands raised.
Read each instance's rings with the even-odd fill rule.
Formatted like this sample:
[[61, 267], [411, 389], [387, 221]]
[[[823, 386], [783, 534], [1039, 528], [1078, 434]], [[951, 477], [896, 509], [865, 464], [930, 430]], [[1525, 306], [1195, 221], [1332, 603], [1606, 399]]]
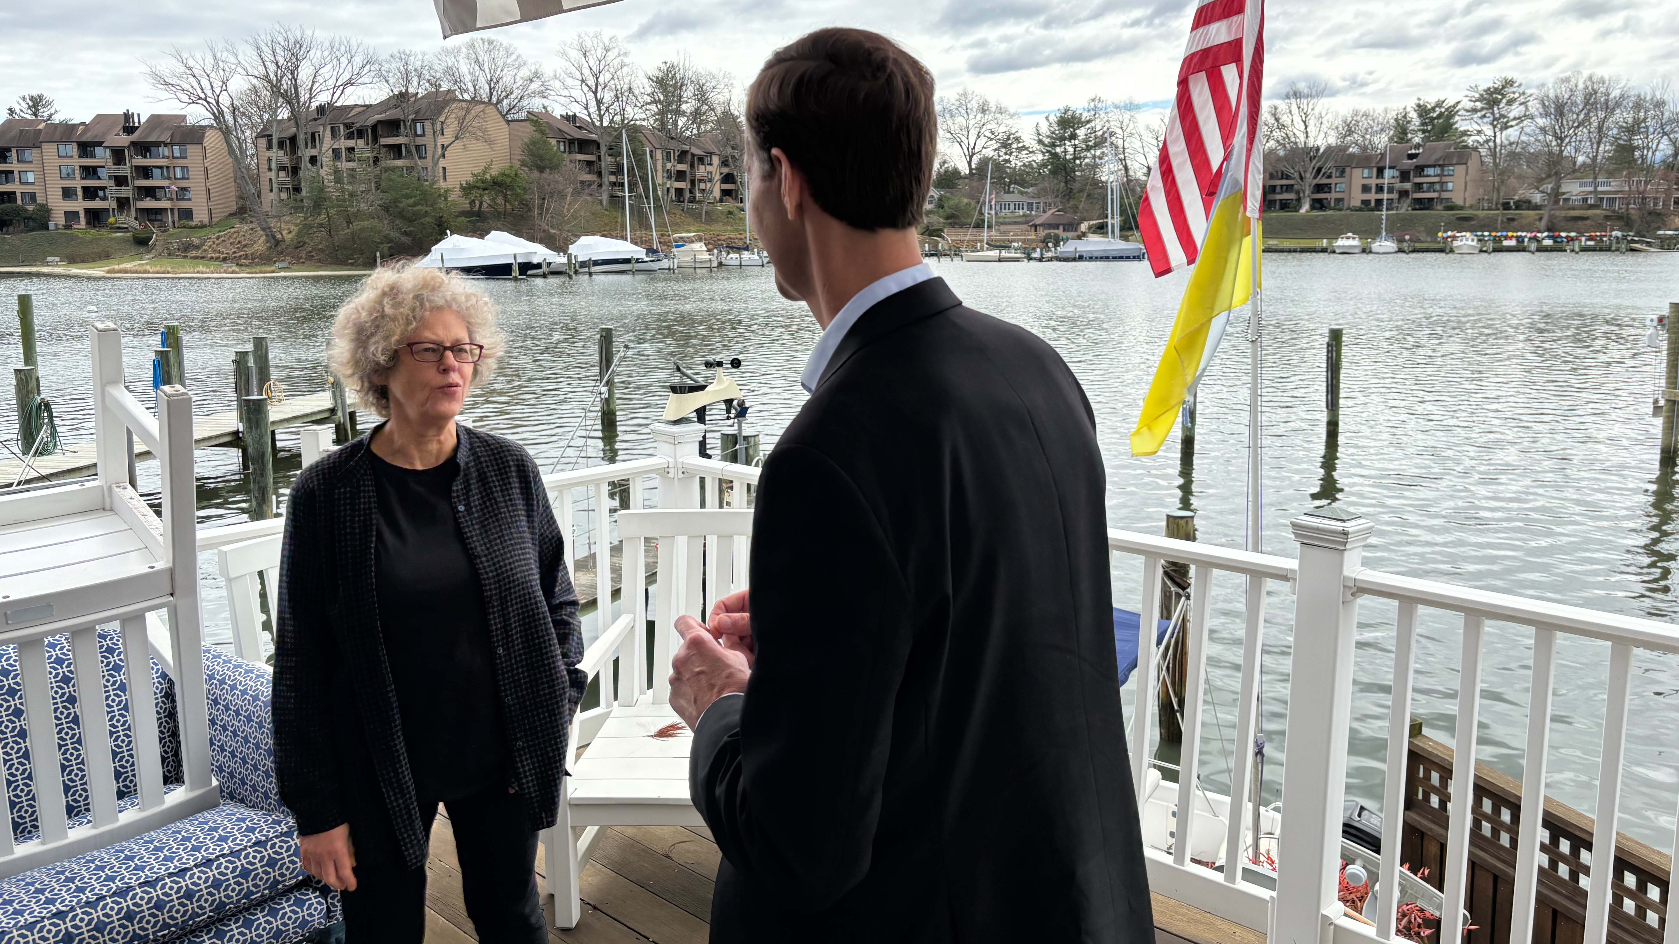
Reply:
[[754, 230], [824, 331], [751, 601], [678, 621], [712, 939], [1153, 941], [1095, 418], [1053, 348], [922, 262], [932, 76], [818, 30], [745, 118]]

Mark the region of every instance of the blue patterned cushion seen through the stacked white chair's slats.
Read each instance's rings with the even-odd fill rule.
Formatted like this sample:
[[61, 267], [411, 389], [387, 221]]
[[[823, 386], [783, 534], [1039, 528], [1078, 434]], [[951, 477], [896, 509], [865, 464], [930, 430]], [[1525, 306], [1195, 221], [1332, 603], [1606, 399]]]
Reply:
[[[123, 637], [116, 630], [99, 630], [99, 662], [104, 674], [106, 722], [111, 729], [111, 759], [116, 768], [118, 798], [136, 789], [134, 734], [128, 712], [128, 675], [123, 665]], [[82, 753], [82, 724], [71, 662], [71, 638], [47, 637], [47, 677], [52, 692], [52, 716], [59, 732], [59, 769], [64, 776], [65, 816], [84, 816], [92, 810], [87, 793], [87, 759]], [[163, 779], [181, 779], [181, 741], [175, 717], [175, 684], [156, 660], [151, 682], [158, 704], [158, 739], [163, 746]], [[0, 647], [0, 766], [5, 768], [3, 789], [12, 808], [12, 835], [40, 831], [35, 810], [34, 758], [24, 726], [24, 684], [17, 667], [17, 647]]]

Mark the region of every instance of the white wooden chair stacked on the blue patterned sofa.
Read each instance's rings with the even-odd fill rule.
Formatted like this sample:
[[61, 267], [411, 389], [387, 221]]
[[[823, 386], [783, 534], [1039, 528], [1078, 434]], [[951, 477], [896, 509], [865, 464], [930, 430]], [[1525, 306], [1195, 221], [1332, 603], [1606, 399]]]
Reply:
[[[89, 333], [97, 480], [0, 497], [0, 645], [17, 645], [32, 758], [86, 763], [91, 821], [67, 815], [60, 763], [30, 764], [39, 833], [13, 842], [0, 789], [0, 878], [104, 848], [220, 803], [210, 774], [205, 669], [198, 618], [196, 496], [191, 395], [158, 390], [156, 417], [123, 386], [123, 339]], [[163, 472], [163, 519], [128, 484], [128, 437]], [[146, 613], [168, 613], [185, 786], [166, 791], [151, 685]], [[131, 699], [138, 803], [119, 796], [106, 719], [96, 627], [119, 623]], [[79, 702], [72, 737], [54, 719], [45, 642], [69, 635]], [[86, 761], [82, 761], [86, 758]], [[3, 776], [3, 773], [0, 773]]]

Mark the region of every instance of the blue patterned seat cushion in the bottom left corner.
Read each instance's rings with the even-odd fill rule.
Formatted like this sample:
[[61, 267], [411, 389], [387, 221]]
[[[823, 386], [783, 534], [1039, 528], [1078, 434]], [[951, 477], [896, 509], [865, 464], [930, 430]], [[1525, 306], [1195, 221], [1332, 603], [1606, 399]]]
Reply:
[[0, 939], [8, 944], [170, 939], [269, 902], [306, 880], [289, 815], [223, 803], [0, 882]]

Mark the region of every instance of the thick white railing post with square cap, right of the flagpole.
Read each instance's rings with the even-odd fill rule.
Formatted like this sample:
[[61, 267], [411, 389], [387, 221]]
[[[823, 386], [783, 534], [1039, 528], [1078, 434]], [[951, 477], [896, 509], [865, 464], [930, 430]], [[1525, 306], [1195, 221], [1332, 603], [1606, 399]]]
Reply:
[[1328, 939], [1328, 915], [1340, 909], [1342, 800], [1358, 618], [1345, 578], [1358, 569], [1372, 526], [1336, 507], [1303, 514], [1291, 524], [1300, 543], [1300, 585], [1283, 766], [1288, 828], [1278, 848], [1273, 942], [1320, 944]]

